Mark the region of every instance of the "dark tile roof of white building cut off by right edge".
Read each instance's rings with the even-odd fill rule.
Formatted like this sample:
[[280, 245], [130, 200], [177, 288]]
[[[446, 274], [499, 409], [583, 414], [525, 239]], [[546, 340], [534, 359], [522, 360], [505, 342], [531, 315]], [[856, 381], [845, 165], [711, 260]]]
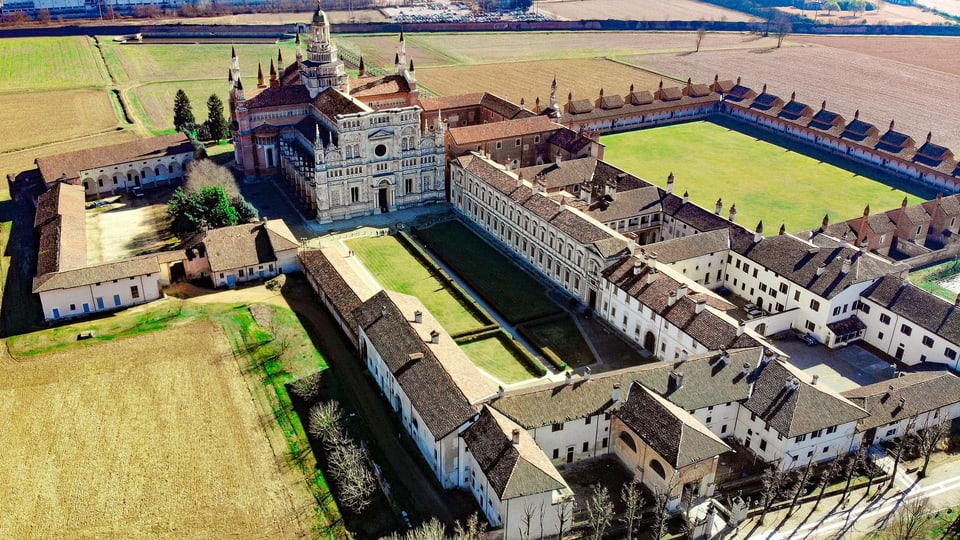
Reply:
[[898, 276], [885, 276], [863, 292], [884, 308], [924, 330], [960, 344], [960, 308]]

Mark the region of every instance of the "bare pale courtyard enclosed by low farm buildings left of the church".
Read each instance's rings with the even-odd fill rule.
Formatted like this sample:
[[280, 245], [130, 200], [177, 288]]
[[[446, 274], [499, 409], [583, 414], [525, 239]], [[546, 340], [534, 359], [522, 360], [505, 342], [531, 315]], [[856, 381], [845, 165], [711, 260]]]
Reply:
[[170, 216], [163, 204], [172, 188], [150, 191], [149, 198], [129, 195], [110, 197], [109, 206], [87, 210], [87, 264], [100, 264], [126, 257], [169, 249], [176, 242], [170, 232]]

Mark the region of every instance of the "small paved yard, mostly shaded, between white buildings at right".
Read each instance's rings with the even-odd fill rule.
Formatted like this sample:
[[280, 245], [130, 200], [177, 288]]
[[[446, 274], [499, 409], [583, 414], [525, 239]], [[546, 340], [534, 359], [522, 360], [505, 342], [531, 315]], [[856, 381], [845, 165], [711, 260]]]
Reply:
[[859, 345], [831, 350], [823, 345], [808, 346], [799, 339], [775, 343], [790, 355], [790, 362], [808, 375], [819, 375], [820, 383], [843, 392], [893, 377], [890, 362]]

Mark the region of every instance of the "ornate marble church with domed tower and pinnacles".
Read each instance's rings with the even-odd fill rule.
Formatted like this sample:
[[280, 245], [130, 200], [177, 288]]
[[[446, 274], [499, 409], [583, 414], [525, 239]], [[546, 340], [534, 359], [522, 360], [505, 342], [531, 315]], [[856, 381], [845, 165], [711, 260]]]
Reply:
[[[280, 176], [322, 224], [444, 200], [442, 122], [422, 122], [413, 60], [403, 34], [395, 72], [351, 79], [319, 8], [307, 54], [245, 91], [236, 54], [230, 129], [247, 178]], [[247, 94], [251, 94], [248, 98]], [[255, 94], [255, 95], [254, 95]]]

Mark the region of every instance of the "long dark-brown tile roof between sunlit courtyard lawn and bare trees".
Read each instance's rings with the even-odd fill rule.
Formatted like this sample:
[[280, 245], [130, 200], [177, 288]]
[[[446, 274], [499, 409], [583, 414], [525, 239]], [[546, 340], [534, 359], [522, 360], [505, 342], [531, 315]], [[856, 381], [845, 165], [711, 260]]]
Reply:
[[370, 297], [353, 315], [435, 440], [473, 418], [476, 411], [466, 396], [386, 291]]

